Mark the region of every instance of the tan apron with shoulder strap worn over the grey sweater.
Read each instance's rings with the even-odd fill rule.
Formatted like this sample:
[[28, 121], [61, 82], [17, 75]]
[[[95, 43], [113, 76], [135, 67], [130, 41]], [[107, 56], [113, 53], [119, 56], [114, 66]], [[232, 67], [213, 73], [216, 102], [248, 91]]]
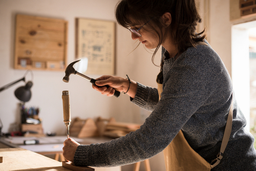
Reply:
[[[207, 45], [202, 42], [203, 45]], [[201, 44], [202, 45], [202, 44]], [[208, 45], [207, 45], [208, 46]], [[159, 100], [163, 91], [163, 74], [160, 72], [157, 76], [158, 94]], [[230, 137], [232, 127], [232, 105], [230, 107], [226, 129], [224, 132], [220, 153], [212, 162], [212, 165], [208, 163], [203, 157], [201, 157], [193, 148], [190, 147], [186, 141], [182, 131], [180, 130], [172, 142], [164, 149], [164, 162], [166, 171], [179, 171], [179, 170], [210, 170], [220, 163], [222, 155], [226, 148], [227, 142]]]

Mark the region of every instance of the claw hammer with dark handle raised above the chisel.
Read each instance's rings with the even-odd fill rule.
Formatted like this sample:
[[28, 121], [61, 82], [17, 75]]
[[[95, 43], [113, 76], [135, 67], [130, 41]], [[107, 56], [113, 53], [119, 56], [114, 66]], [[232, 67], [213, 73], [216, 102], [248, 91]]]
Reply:
[[[84, 78], [84, 79], [90, 81], [92, 84], [96, 85], [96, 84], [95, 84], [95, 81], [97, 81], [96, 79], [93, 79], [93, 78], [90, 78], [90, 77], [88, 77], [88, 76], [86, 76], [86, 75], [83, 75], [83, 74], [77, 72], [77, 71], [73, 68], [73, 65], [74, 65], [76, 62], [79, 62], [79, 61], [80, 61], [80, 60], [76, 60], [76, 61], [70, 63], [70, 65], [68, 65], [68, 67], [67, 67], [66, 70], [65, 70], [65, 74], [66, 74], [66, 75], [65, 75], [65, 77], [63, 77], [62, 80], [63, 80], [64, 82], [69, 82], [69, 76], [70, 76], [70, 74], [75, 74], [75, 75], [77, 74], [77, 75], [79, 75], [80, 77], [82, 77], [82, 78]], [[100, 87], [100, 86], [98, 86], [98, 87]], [[105, 85], [105, 86], [101, 86], [101, 87], [109, 88], [110, 86]], [[115, 90], [114, 96], [119, 97], [119, 96], [120, 96], [120, 92], [117, 91], [117, 90]]]

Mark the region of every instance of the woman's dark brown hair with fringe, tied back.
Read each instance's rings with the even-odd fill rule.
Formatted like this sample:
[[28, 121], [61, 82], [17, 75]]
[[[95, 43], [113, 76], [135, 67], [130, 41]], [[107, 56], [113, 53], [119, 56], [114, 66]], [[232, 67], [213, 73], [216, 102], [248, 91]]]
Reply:
[[197, 42], [203, 41], [206, 36], [205, 29], [201, 33], [196, 33], [197, 23], [201, 23], [202, 19], [198, 14], [195, 0], [122, 0], [116, 6], [117, 23], [124, 28], [143, 25], [151, 20], [147, 23], [147, 28], [155, 30], [159, 37], [159, 44], [152, 56], [153, 63], [163, 37], [166, 36], [161, 31], [165, 26], [160, 19], [166, 12], [172, 15], [169, 35], [177, 44], [178, 55], [189, 47], [196, 47]]

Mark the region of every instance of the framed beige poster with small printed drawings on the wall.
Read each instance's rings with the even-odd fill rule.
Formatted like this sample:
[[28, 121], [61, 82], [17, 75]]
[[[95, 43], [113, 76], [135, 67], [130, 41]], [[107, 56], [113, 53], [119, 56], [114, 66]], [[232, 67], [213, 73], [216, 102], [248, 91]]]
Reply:
[[115, 22], [76, 18], [76, 59], [84, 74], [115, 74]]

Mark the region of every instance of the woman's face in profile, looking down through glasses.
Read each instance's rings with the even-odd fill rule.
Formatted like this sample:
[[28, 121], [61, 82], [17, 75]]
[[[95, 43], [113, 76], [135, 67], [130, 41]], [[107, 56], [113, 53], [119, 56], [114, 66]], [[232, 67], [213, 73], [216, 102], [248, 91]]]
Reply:
[[[141, 26], [133, 26], [131, 29], [139, 29]], [[148, 28], [146, 25], [139, 30], [141, 37], [132, 33], [133, 40], [139, 40], [147, 49], [154, 49], [159, 44], [157, 32]]]

